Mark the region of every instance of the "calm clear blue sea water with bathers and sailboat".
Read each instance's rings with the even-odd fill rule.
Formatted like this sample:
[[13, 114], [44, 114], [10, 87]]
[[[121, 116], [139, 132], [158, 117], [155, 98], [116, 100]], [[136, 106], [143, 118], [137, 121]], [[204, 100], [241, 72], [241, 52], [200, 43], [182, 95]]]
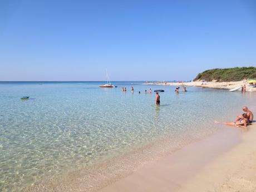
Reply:
[[[176, 95], [170, 86], [98, 87], [104, 83], [0, 82], [0, 191], [21, 191], [166, 135], [184, 145], [221, 129], [215, 119], [233, 121], [243, 105], [255, 107], [255, 93], [188, 87]], [[144, 93], [149, 88], [165, 90], [160, 106], [154, 92]]]

